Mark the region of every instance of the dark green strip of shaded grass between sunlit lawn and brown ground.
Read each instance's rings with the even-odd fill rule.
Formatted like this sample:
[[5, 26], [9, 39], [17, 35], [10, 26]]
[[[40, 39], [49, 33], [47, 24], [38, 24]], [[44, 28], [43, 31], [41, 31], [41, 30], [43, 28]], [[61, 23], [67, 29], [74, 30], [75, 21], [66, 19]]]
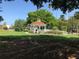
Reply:
[[64, 36], [54, 36], [54, 35], [21, 35], [21, 36], [0, 36], [0, 40], [48, 40], [48, 41], [72, 41], [79, 40], [76, 37], [64, 37]]

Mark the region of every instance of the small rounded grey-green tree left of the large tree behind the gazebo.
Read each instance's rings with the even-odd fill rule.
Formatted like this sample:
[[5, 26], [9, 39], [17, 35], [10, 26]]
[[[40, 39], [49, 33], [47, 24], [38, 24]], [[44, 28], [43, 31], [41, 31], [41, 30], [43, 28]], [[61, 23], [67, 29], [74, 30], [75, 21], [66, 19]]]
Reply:
[[21, 20], [21, 19], [19, 19], [19, 20], [16, 20], [15, 21], [15, 24], [14, 24], [14, 29], [15, 29], [15, 31], [23, 31], [24, 30], [24, 20]]

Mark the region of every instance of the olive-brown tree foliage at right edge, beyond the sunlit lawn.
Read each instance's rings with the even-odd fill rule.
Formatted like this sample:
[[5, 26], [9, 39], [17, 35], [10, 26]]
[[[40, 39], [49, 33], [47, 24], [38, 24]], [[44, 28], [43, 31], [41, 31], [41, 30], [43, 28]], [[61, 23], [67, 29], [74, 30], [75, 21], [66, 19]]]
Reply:
[[71, 32], [79, 32], [79, 12], [75, 12], [74, 16], [69, 18], [68, 28]]

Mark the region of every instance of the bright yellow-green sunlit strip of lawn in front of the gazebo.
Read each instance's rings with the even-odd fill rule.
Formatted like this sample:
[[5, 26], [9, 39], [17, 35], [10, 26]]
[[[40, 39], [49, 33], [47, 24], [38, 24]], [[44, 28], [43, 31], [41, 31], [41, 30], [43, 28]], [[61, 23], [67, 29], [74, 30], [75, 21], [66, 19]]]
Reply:
[[[66, 38], [79, 38], [79, 34], [33, 34], [28, 32], [16, 32], [13, 30], [0, 30], [0, 36], [60, 36], [60, 37], [66, 37]], [[42, 39], [42, 38], [41, 38]]]

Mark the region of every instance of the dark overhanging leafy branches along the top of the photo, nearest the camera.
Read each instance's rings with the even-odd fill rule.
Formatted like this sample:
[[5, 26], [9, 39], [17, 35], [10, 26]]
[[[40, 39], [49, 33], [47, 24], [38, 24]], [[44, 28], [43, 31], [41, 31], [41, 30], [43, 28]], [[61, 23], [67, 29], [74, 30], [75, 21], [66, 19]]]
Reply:
[[[4, 1], [14, 1], [14, 0], [4, 0]], [[26, 2], [31, 1], [37, 8], [41, 8], [45, 3], [53, 9], [60, 9], [65, 13], [70, 12], [74, 9], [79, 9], [79, 0], [25, 0]], [[2, 3], [2, 0], [0, 0]]]

